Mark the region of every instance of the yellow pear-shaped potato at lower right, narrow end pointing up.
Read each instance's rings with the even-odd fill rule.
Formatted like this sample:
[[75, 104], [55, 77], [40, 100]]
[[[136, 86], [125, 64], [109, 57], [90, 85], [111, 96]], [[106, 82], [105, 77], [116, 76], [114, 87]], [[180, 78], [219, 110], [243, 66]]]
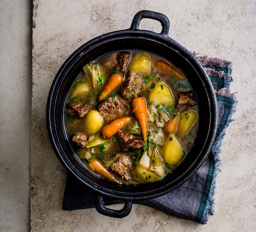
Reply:
[[169, 164], [169, 166], [179, 164], [180, 160], [182, 159], [184, 151], [180, 145], [180, 142], [173, 134], [169, 134], [164, 142], [162, 155], [164, 163]]

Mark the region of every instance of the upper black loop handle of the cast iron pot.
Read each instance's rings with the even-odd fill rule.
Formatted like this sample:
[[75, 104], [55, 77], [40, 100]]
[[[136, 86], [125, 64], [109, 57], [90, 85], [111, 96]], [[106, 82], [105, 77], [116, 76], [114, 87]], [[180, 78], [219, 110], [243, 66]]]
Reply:
[[144, 10], [144, 11], [139, 11], [138, 13], [136, 13], [134, 15], [134, 19], [133, 19], [130, 29], [131, 30], [139, 30], [140, 21], [143, 18], [151, 18], [151, 19], [157, 20], [162, 25], [162, 31], [160, 34], [167, 35], [167, 36], [169, 35], [170, 23], [169, 23], [168, 17], [166, 17], [165, 15], [163, 15], [161, 13], [155, 12], [155, 11]]

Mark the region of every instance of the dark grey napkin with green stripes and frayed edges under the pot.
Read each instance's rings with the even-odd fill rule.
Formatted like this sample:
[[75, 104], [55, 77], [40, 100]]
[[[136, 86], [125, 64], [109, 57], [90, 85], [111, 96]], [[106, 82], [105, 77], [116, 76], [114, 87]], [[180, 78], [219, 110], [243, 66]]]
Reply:
[[[161, 197], [134, 202], [134, 204], [147, 205], [168, 215], [206, 224], [208, 216], [214, 213], [215, 181], [221, 164], [219, 158], [221, 141], [227, 126], [232, 121], [236, 98], [229, 92], [232, 81], [231, 62], [208, 57], [197, 57], [197, 59], [209, 75], [218, 104], [218, 129], [212, 150], [196, 174], [183, 185]], [[93, 190], [82, 185], [68, 173], [63, 198], [64, 210], [93, 208], [95, 198], [96, 194]], [[105, 205], [119, 203], [122, 202], [105, 198]]]

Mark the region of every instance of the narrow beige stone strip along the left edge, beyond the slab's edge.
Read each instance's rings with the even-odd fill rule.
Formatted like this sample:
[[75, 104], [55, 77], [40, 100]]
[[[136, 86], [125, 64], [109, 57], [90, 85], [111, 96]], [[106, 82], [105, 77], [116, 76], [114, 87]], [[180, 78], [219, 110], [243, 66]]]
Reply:
[[31, 12], [0, 2], [0, 232], [29, 231]]

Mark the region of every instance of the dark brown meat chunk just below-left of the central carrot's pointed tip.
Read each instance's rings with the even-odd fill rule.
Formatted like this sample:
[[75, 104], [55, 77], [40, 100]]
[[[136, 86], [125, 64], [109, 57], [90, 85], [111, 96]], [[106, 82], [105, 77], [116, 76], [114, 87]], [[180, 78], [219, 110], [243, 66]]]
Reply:
[[117, 132], [117, 138], [121, 147], [126, 150], [138, 150], [145, 145], [144, 141], [138, 137], [133, 137], [129, 133]]

